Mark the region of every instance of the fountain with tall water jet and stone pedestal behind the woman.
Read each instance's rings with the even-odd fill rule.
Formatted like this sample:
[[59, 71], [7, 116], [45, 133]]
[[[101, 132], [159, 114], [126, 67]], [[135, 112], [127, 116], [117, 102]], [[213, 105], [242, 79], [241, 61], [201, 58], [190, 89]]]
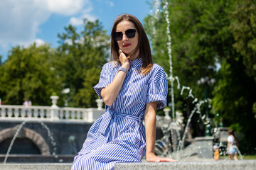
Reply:
[[[158, 21], [158, 14], [161, 10], [160, 4], [161, 1], [154, 1], [154, 18], [152, 18], [151, 22], [152, 26], [155, 26], [154, 21]], [[163, 7], [162, 12], [165, 16], [166, 21], [166, 35], [168, 38], [167, 42], [167, 50], [168, 50], [168, 56], [169, 56], [169, 76], [167, 76], [167, 79], [170, 81], [171, 89], [171, 111], [172, 117], [169, 116], [169, 111], [164, 111], [165, 116], [157, 116], [156, 122], [159, 127], [161, 127], [161, 130], [163, 131], [164, 137], [162, 137], [159, 140], [156, 140], [156, 154], [164, 156], [164, 157], [171, 157], [173, 159], [181, 160], [181, 159], [187, 159], [189, 156], [193, 154], [197, 154], [198, 158], [201, 159], [212, 159], [213, 158], [213, 136], [210, 136], [210, 118], [208, 118], [208, 108], [210, 108], [210, 98], [207, 98], [203, 101], [199, 101], [198, 98], [195, 98], [192, 94], [192, 89], [188, 86], [182, 86], [181, 89], [181, 96], [183, 95], [183, 92], [185, 90], [188, 91], [188, 95], [186, 98], [192, 98], [193, 104], [195, 107], [191, 111], [191, 114], [188, 117], [187, 123], [185, 128], [183, 128], [182, 121], [180, 123], [177, 123], [177, 112], [175, 112], [175, 102], [174, 102], [174, 81], [177, 81], [177, 89], [180, 89], [180, 84], [178, 81], [178, 77], [174, 77], [173, 75], [173, 67], [172, 67], [172, 56], [171, 56], [171, 31], [170, 31], [170, 21], [169, 21], [169, 11], [168, 6], [169, 2], [167, 0], [162, 1]], [[167, 75], [167, 74], [166, 74]], [[214, 83], [215, 79], [208, 79], [208, 77], [204, 77], [198, 81], [198, 84], [204, 84], [204, 83]], [[206, 114], [201, 114], [201, 106], [206, 105]], [[196, 143], [197, 145], [191, 145], [188, 148], [185, 148], [184, 142], [186, 140], [186, 135], [188, 132], [188, 127], [191, 123], [191, 118], [193, 117], [194, 113], [198, 113], [199, 118], [203, 122], [203, 125], [206, 127], [206, 136], [205, 137], [196, 137]], [[183, 133], [183, 136], [181, 138], [181, 132]], [[226, 139], [226, 138], [225, 138]], [[171, 140], [171, 141], [170, 141]], [[221, 143], [220, 143], [221, 145]], [[192, 147], [193, 146], [193, 147]], [[196, 149], [194, 149], [196, 147]], [[221, 153], [224, 153], [225, 147], [221, 145], [220, 150]], [[186, 151], [186, 152], [185, 152]], [[191, 153], [189, 155], [188, 153]]]

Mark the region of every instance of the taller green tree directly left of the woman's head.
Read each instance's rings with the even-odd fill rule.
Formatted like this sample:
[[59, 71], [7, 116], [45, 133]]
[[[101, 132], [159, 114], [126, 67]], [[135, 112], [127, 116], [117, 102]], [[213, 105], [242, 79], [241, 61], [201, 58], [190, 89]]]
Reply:
[[55, 68], [63, 81], [63, 89], [69, 88], [69, 106], [96, 106], [97, 95], [93, 86], [100, 78], [102, 65], [109, 57], [110, 42], [106, 30], [99, 21], [84, 21], [83, 30], [68, 26], [59, 34]]

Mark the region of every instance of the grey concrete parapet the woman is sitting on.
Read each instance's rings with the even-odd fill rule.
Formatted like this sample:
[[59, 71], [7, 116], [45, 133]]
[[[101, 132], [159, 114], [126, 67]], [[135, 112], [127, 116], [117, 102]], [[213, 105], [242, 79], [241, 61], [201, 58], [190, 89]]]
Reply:
[[[3, 170], [70, 170], [72, 164], [0, 164]], [[142, 162], [142, 163], [118, 163], [114, 170], [255, 170], [256, 160], [235, 161], [210, 161], [210, 162]]]

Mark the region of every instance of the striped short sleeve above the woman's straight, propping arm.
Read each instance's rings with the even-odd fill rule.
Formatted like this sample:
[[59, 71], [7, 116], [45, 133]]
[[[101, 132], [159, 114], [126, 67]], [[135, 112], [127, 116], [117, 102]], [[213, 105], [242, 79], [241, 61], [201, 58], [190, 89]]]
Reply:
[[149, 89], [146, 95], [146, 103], [158, 101], [157, 108], [161, 109], [167, 106], [166, 96], [168, 93], [168, 83], [164, 69], [160, 67], [154, 74], [154, 78], [149, 84]]

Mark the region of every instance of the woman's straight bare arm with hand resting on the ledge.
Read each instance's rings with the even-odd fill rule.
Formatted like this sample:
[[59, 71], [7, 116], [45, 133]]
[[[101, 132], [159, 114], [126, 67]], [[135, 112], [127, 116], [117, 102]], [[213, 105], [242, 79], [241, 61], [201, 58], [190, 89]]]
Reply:
[[157, 101], [146, 104], [145, 129], [146, 129], [146, 161], [147, 162], [176, 162], [174, 159], [157, 157], [154, 154], [156, 142], [156, 106]]

